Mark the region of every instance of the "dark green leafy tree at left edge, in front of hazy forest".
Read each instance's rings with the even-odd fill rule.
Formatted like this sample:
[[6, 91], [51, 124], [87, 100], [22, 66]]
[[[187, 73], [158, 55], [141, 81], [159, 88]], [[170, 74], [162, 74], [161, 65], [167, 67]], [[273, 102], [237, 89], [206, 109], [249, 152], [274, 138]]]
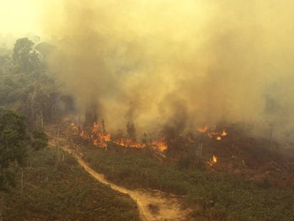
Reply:
[[28, 136], [23, 115], [0, 108], [0, 190], [13, 185], [9, 166], [23, 164], [27, 156]]

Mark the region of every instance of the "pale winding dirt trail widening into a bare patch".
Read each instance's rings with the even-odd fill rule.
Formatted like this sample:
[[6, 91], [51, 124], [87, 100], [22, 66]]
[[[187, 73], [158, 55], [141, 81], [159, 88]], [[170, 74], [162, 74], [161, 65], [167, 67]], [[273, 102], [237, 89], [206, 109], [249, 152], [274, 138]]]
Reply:
[[[56, 141], [50, 140], [50, 146], [56, 146]], [[119, 185], [109, 182], [104, 175], [97, 173], [89, 165], [82, 160], [80, 156], [72, 151], [70, 144], [65, 139], [60, 139], [60, 147], [71, 153], [77, 159], [80, 166], [85, 168], [91, 176], [105, 185], [109, 185], [112, 189], [130, 195], [138, 205], [141, 220], [187, 220], [190, 210], [183, 210], [180, 205], [180, 196], [170, 193], [163, 193], [159, 190], [137, 189], [128, 190]]]

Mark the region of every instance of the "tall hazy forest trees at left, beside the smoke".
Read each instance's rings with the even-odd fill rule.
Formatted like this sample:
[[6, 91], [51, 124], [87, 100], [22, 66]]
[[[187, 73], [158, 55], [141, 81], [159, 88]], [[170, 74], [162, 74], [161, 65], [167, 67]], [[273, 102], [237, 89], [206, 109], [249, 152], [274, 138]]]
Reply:
[[31, 131], [42, 131], [45, 122], [72, 108], [72, 99], [48, 68], [53, 50], [28, 38], [19, 38], [12, 51], [0, 48], [0, 106], [25, 114]]

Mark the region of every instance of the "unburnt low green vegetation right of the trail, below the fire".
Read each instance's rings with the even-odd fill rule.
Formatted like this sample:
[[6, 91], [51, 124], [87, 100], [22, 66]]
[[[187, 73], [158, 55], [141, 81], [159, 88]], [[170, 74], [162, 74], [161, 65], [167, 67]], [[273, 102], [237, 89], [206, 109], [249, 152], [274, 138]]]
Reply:
[[[294, 190], [254, 183], [225, 172], [161, 163], [143, 151], [84, 149], [85, 160], [107, 179], [127, 188], [153, 188], [187, 195], [192, 216], [205, 220], [294, 220]], [[217, 165], [216, 165], [217, 166]]]

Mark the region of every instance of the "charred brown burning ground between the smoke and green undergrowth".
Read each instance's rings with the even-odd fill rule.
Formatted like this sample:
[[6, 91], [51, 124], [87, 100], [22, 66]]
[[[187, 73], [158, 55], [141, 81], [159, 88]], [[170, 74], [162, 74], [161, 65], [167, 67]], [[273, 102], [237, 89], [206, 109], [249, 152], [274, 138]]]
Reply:
[[183, 168], [206, 168], [257, 183], [267, 180], [271, 185], [293, 187], [293, 148], [269, 138], [256, 139], [247, 129], [244, 125], [205, 125], [187, 134], [163, 134], [163, 130], [157, 139], [147, 134], [137, 137], [136, 129], [129, 123], [124, 133], [112, 135], [102, 121], [94, 122], [88, 130], [85, 124], [78, 126], [72, 122], [67, 126], [67, 134], [74, 143], [91, 144], [104, 151], [139, 151], [159, 161], [177, 162]]

